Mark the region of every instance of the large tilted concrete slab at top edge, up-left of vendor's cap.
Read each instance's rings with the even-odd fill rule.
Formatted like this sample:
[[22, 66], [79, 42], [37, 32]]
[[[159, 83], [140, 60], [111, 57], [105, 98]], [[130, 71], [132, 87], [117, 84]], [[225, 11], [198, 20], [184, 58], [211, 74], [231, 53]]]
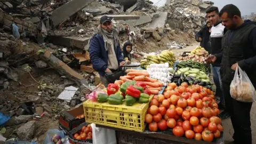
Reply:
[[66, 4], [58, 7], [52, 12], [51, 19], [53, 21], [53, 25], [58, 26], [62, 21], [66, 20], [76, 12], [81, 11], [86, 5], [88, 5], [92, 1], [94, 0], [71, 0]]

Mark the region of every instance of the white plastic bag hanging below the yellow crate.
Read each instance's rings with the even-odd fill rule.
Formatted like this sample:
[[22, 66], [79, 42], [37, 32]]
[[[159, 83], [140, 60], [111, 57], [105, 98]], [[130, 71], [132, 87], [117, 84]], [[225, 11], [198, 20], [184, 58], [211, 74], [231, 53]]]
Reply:
[[91, 126], [93, 144], [116, 144], [115, 130], [96, 127], [94, 123], [92, 123]]

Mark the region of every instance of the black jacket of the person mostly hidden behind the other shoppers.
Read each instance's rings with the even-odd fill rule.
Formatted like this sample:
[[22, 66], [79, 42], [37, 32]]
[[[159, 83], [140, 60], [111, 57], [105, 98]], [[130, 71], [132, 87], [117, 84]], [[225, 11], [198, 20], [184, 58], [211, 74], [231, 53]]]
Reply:
[[207, 26], [204, 26], [201, 30], [199, 30], [196, 35], [196, 41], [199, 42], [199, 37], [202, 38], [202, 41], [200, 43], [201, 47], [204, 47], [204, 49], [210, 53], [211, 49], [209, 47], [209, 45], [207, 44], [209, 39], [210, 39], [210, 32], [209, 32], [209, 28]]

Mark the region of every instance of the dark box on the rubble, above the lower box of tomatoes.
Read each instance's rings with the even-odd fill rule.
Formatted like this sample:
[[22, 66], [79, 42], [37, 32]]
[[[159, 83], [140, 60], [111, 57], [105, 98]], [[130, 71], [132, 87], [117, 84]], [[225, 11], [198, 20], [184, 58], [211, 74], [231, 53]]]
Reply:
[[76, 118], [77, 116], [83, 115], [83, 114], [84, 114], [83, 105], [68, 111], [63, 110], [60, 113], [59, 125], [61, 126], [62, 129], [66, 131], [71, 131], [75, 127], [85, 122], [85, 118], [81, 118], [81, 119]]

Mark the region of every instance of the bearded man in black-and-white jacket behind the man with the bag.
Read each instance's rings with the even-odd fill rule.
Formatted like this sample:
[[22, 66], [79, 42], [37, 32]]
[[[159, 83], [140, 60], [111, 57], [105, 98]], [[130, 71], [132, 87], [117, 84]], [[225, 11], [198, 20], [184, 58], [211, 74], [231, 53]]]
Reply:
[[[219, 18], [219, 9], [218, 7], [212, 6], [206, 10], [207, 19], [211, 23], [211, 35], [210, 35], [210, 48], [211, 51], [209, 54], [216, 54], [221, 52], [221, 39], [223, 35], [226, 33], [226, 29], [224, 26], [221, 25], [221, 21]], [[220, 98], [219, 108], [223, 108], [225, 105], [224, 95], [222, 93], [222, 83], [220, 77], [220, 62], [212, 63], [212, 74], [213, 74], [213, 81], [216, 85], [216, 93], [217, 97]], [[220, 114], [222, 119], [226, 119], [229, 117], [229, 114], [226, 110], [222, 111]]]

